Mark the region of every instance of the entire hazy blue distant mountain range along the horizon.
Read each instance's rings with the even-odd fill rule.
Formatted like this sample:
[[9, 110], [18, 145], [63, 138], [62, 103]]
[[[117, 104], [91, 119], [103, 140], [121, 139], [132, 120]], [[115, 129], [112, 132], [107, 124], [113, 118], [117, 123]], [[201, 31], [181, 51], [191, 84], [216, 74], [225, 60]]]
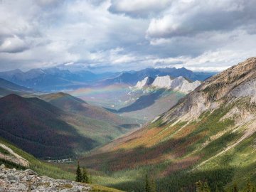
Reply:
[[[56, 92], [59, 90], [74, 90], [79, 87], [106, 86], [115, 83], [134, 85], [146, 76], [155, 78], [158, 75], [183, 76], [190, 80], [204, 80], [214, 73], [193, 73], [185, 68], [147, 68], [140, 71], [123, 73], [99, 73], [88, 70], [68, 70], [65, 68], [32, 69], [26, 72], [11, 70], [0, 72], [0, 78], [14, 82], [17, 85], [32, 88], [36, 91]], [[177, 76], [178, 75], [178, 76]]]

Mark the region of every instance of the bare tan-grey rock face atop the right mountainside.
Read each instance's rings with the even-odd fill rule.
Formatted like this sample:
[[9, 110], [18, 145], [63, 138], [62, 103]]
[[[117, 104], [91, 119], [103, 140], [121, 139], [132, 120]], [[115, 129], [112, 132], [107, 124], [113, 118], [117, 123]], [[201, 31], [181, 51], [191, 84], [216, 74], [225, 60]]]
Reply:
[[[215, 110], [247, 97], [256, 101], [256, 58], [249, 58], [231, 68], [214, 75], [193, 92], [190, 92], [178, 105], [161, 116], [164, 122], [175, 119], [192, 120], [206, 110]], [[250, 115], [248, 109], [240, 108], [240, 113]]]

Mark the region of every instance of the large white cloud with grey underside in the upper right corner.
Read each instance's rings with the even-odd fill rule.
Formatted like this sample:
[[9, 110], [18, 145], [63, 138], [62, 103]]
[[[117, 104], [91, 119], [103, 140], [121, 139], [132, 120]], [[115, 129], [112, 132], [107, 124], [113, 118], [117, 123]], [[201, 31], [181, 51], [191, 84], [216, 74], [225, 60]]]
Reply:
[[151, 19], [149, 38], [194, 36], [206, 31], [232, 31], [254, 23], [255, 1], [175, 1], [161, 18]]

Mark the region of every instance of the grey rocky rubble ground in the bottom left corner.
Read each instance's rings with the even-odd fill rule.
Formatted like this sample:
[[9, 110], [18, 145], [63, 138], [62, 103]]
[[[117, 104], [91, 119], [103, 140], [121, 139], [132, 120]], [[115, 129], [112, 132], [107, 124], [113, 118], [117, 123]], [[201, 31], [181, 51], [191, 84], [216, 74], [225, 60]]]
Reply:
[[90, 186], [84, 183], [38, 176], [35, 171], [30, 169], [19, 171], [16, 169], [8, 169], [4, 164], [0, 166], [0, 192], [77, 192], [90, 190]]

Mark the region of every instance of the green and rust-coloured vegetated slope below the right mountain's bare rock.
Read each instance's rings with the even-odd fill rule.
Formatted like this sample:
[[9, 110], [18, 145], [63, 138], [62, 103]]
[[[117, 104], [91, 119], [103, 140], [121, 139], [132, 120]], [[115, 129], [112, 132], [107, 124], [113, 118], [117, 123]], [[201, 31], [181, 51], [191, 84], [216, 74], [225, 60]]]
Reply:
[[[240, 107], [247, 107], [246, 101], [239, 103]], [[105, 172], [98, 177], [99, 183], [124, 191], [131, 191], [131, 186], [135, 191], [143, 191], [144, 176], [150, 173], [154, 173], [151, 176], [157, 180], [159, 191], [178, 191], [180, 188], [193, 191], [198, 180], [207, 180], [213, 190], [216, 186], [222, 190], [234, 181], [238, 186], [244, 186], [248, 177], [256, 182], [256, 134], [198, 167], [201, 162], [235, 144], [244, 129], [250, 128], [240, 127], [232, 132], [234, 121], [220, 120], [233, 106], [205, 112], [199, 122], [190, 124], [181, 122], [171, 126], [155, 122], [109, 147], [105, 146], [100, 154], [85, 157], [82, 164]]]

